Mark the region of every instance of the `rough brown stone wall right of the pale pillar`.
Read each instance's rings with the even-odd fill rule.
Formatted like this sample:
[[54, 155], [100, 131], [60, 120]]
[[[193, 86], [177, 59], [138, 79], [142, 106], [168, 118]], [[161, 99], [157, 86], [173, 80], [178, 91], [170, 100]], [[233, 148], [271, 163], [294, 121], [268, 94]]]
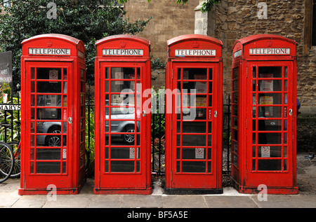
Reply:
[[[258, 18], [259, 3], [267, 4], [267, 17]], [[260, 14], [261, 15], [261, 14]], [[230, 92], [232, 46], [236, 39], [253, 34], [277, 34], [298, 43], [298, 99], [302, 112], [315, 106], [316, 52], [303, 55], [305, 0], [226, 0], [209, 13], [209, 35], [223, 41], [224, 91]]]

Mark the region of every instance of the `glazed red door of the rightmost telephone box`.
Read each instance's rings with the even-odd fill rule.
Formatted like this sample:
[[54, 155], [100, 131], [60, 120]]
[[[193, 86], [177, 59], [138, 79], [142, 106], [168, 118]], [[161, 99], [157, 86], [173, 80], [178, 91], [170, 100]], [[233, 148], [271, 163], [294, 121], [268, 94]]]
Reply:
[[248, 90], [252, 90], [247, 94], [247, 165], [251, 166], [247, 183], [254, 187], [261, 183], [289, 186], [293, 180], [291, 138], [296, 113], [293, 62], [248, 62], [247, 67]]

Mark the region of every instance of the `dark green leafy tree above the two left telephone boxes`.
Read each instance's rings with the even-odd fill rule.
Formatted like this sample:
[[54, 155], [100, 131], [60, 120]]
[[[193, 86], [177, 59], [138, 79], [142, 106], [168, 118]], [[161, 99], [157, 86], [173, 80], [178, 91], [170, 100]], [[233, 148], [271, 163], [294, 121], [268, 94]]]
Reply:
[[[57, 18], [48, 19], [49, 0], [12, 0], [12, 7], [0, 15], [0, 48], [13, 53], [13, 91], [20, 82], [21, 42], [38, 34], [65, 34], [86, 46], [87, 81], [94, 84], [95, 43], [114, 34], [142, 32], [148, 20], [129, 22], [126, 11], [112, 0], [55, 0]], [[1, 3], [0, 3], [1, 6]]]

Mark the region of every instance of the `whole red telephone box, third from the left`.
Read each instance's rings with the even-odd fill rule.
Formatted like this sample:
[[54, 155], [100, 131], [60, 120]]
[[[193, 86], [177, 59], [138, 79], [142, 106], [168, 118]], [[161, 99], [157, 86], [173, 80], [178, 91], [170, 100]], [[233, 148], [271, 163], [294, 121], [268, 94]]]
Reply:
[[198, 34], [167, 41], [166, 193], [223, 193], [222, 46]]

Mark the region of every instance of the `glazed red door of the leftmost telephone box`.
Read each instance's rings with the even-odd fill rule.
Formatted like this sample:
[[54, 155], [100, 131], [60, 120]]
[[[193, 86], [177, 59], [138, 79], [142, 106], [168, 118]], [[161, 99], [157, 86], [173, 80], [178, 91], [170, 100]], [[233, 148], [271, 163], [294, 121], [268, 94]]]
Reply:
[[[26, 62], [25, 188], [71, 186], [71, 62]], [[49, 176], [48, 176], [49, 175]], [[34, 176], [34, 179], [32, 177]], [[36, 177], [35, 177], [36, 176]]]

